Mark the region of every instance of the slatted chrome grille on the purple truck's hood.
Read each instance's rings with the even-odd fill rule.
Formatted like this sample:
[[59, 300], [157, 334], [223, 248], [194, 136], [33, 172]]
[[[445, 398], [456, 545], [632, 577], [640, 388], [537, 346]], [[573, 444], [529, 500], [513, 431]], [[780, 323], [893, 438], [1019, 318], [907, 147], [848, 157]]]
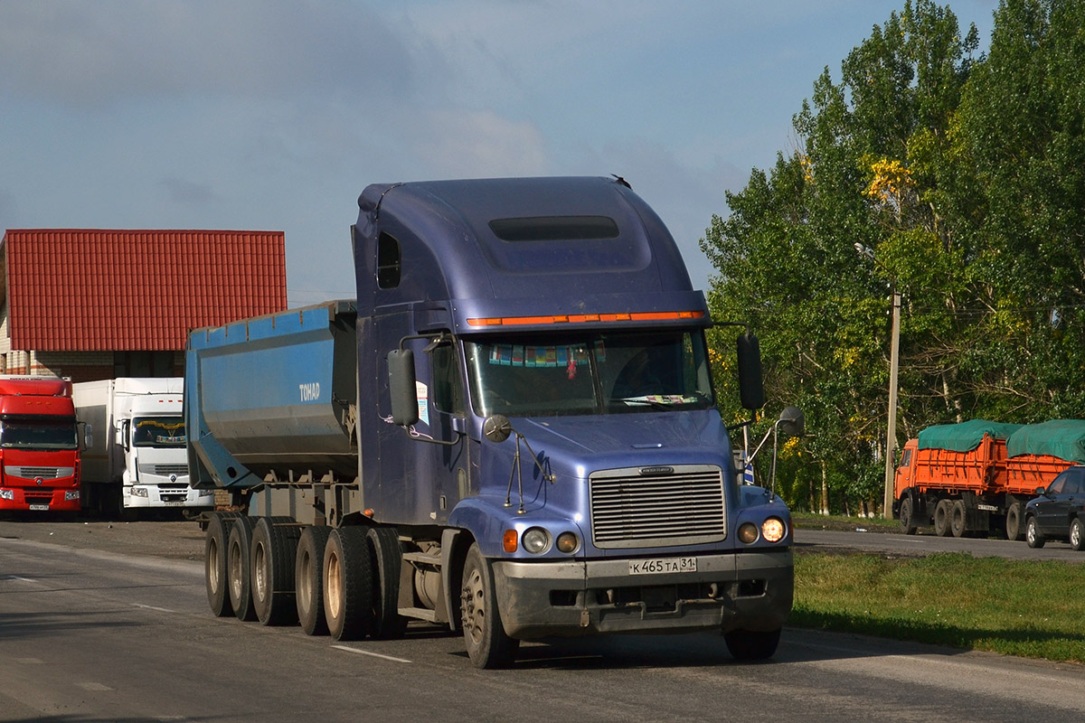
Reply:
[[[727, 537], [719, 467], [685, 465], [608, 469], [588, 478], [597, 547], [717, 542]], [[669, 474], [659, 474], [669, 469]]]

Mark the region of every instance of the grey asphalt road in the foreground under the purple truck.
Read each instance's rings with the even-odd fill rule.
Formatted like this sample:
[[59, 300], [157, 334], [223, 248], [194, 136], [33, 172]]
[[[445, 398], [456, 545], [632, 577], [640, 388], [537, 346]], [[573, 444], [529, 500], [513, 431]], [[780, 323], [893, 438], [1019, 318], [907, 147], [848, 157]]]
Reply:
[[1081, 666], [792, 629], [760, 664], [737, 663], [718, 635], [698, 634], [531, 644], [511, 670], [478, 671], [459, 636], [433, 627], [340, 645], [297, 627], [214, 618], [196, 560], [9, 533], [0, 674], [9, 723], [1019, 723], [1085, 713]]

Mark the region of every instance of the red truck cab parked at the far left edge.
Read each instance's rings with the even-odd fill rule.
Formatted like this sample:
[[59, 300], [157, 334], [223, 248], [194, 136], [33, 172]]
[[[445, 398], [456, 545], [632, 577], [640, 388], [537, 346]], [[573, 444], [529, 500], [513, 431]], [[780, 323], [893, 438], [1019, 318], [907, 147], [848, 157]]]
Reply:
[[0, 511], [78, 512], [72, 382], [0, 375]]

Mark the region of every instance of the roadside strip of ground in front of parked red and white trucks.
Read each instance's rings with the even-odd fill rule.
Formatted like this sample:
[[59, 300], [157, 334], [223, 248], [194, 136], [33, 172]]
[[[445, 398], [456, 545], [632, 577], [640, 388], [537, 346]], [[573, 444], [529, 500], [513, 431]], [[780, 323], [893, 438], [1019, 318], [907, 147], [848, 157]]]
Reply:
[[203, 559], [204, 533], [195, 521], [58, 521], [0, 518], [0, 542], [31, 540], [76, 548], [169, 559]]

